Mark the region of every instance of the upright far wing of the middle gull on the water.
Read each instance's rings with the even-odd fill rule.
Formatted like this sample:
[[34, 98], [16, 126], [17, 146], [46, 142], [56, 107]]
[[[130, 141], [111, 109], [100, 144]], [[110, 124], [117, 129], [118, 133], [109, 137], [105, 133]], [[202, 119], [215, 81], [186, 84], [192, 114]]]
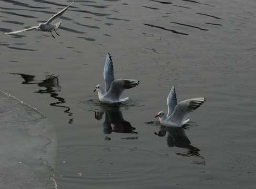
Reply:
[[110, 88], [111, 83], [115, 80], [113, 62], [112, 62], [112, 59], [111, 59], [111, 56], [110, 56], [109, 53], [106, 56], [103, 76], [104, 76], [105, 84], [106, 84], [106, 89], [105, 90], [108, 91], [109, 88]]

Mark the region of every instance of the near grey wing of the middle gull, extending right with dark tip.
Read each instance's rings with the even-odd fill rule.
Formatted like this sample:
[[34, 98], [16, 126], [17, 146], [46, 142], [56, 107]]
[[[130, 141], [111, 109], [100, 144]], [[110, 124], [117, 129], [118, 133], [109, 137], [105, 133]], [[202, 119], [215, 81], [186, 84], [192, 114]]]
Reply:
[[125, 89], [130, 89], [139, 85], [135, 79], [116, 79], [110, 85], [107, 98], [119, 100]]

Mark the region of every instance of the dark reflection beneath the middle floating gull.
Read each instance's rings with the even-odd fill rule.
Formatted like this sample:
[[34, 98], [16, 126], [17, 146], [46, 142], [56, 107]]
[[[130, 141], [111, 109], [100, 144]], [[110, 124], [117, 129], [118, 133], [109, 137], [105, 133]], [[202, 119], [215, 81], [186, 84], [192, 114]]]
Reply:
[[[122, 112], [120, 111], [119, 104], [100, 104], [99, 110], [95, 110], [95, 119], [101, 120], [105, 113], [105, 121], [103, 122], [104, 134], [110, 134], [111, 132], [117, 133], [134, 133], [136, 128], [132, 127], [130, 122], [124, 120]], [[137, 139], [137, 137], [129, 137], [126, 139]], [[105, 140], [110, 140], [106, 138]]]

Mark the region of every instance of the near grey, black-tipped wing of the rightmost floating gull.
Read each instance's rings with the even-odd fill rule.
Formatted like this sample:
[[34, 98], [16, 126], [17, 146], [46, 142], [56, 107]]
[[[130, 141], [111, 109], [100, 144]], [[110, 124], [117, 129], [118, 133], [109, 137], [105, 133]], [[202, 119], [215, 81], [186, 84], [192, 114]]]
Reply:
[[179, 102], [168, 120], [177, 123], [178, 125], [182, 125], [188, 114], [199, 108], [205, 100], [205, 98], [199, 97]]

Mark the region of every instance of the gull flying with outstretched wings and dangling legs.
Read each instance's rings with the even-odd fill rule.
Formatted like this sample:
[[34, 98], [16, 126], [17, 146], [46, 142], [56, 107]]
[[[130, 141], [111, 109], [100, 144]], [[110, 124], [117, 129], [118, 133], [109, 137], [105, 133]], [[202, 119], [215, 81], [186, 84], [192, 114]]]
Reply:
[[[7, 32], [7, 33], [4, 33], [4, 34], [17, 34], [17, 33], [20, 33], [22, 31], [29, 31], [29, 30], [34, 30], [34, 29], [40, 28], [42, 31], [49, 31], [50, 34], [52, 34], [52, 31], [55, 31], [55, 33], [59, 36], [59, 34], [56, 32], [56, 30], [59, 29], [59, 27], [62, 23], [61, 22], [57, 22], [55, 24], [51, 24], [51, 23], [54, 22], [58, 17], [62, 16], [63, 13], [68, 9], [68, 7], [70, 7], [73, 3], [74, 3], [74, 1], [70, 5], [68, 5], [66, 8], [60, 10], [60, 12], [55, 14], [46, 23], [40, 23], [39, 26], [33, 26], [33, 27], [30, 27], [30, 28], [22, 29], [22, 30], [18, 30], [18, 31], [11, 31], [11, 32]], [[53, 34], [52, 34], [52, 36], [53, 36]], [[55, 38], [55, 37], [53, 36], [53, 38]]]

